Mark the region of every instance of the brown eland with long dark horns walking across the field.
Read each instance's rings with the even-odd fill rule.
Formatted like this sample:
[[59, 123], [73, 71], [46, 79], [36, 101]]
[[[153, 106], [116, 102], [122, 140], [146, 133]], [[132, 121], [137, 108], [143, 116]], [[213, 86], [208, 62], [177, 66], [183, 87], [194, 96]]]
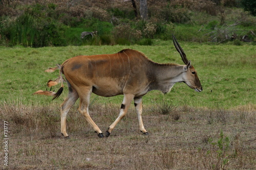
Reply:
[[118, 122], [125, 116], [129, 106], [134, 105], [139, 119], [139, 130], [147, 135], [142, 122], [142, 96], [151, 90], [167, 93], [177, 82], [184, 82], [197, 92], [202, 91], [195, 68], [188, 61], [180, 44], [173, 35], [176, 50], [185, 65], [160, 64], [148, 59], [136, 50], [124, 49], [116, 54], [76, 56], [63, 62], [59, 76], [61, 87], [54, 94], [58, 98], [63, 91], [62, 74], [68, 84], [68, 97], [60, 106], [61, 134], [69, 137], [66, 131], [66, 117], [78, 98], [78, 111], [86, 118], [99, 137], [104, 137], [99, 127], [89, 115], [90, 96], [95, 93], [110, 97], [123, 94], [123, 102], [118, 117], [105, 132], [108, 137]]

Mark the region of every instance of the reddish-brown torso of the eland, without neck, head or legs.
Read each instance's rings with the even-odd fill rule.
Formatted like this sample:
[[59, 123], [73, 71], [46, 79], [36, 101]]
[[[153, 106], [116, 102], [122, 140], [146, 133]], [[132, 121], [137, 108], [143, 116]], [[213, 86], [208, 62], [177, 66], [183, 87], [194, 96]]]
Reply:
[[101, 96], [138, 95], [146, 92], [151, 62], [142, 53], [125, 49], [110, 55], [73, 57], [62, 64], [62, 73], [75, 89], [86, 85]]

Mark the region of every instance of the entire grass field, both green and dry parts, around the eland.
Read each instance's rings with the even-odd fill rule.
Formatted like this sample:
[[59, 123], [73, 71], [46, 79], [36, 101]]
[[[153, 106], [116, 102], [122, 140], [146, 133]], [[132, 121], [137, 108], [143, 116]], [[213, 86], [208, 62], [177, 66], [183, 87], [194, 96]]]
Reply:
[[[3, 127], [4, 120], [8, 122], [8, 168], [256, 168], [256, 47], [252, 44], [180, 42], [198, 71], [203, 91], [198, 93], [178, 83], [168, 94], [146, 94], [142, 117], [148, 136], [138, 131], [131, 107], [111, 136], [99, 139], [77, 112], [76, 104], [67, 120], [71, 138], [64, 140], [59, 129], [59, 105], [67, 96], [67, 86], [55, 101], [49, 96], [31, 95], [45, 90], [48, 80], [58, 77], [58, 71], [50, 74], [45, 69], [77, 55], [112, 54], [133, 48], [156, 62], [182, 64], [171, 41], [154, 44], [0, 47], [0, 124]], [[121, 101], [121, 95], [92, 95], [90, 115], [102, 131], [117, 117]], [[4, 150], [3, 144], [0, 149]]]

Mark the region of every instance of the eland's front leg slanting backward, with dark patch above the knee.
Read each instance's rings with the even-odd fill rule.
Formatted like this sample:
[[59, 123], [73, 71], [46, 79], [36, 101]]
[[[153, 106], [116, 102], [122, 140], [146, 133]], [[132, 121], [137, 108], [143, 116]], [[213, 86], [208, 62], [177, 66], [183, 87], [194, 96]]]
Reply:
[[123, 102], [121, 105], [121, 110], [119, 112], [118, 117], [116, 118], [115, 122], [110, 125], [109, 129], [106, 131], [105, 136], [108, 137], [110, 135], [110, 133], [113, 131], [113, 129], [115, 128], [115, 126], [118, 124], [118, 122], [125, 116], [125, 114], [127, 113], [128, 108], [131, 105], [131, 102], [134, 98], [133, 94], [124, 94], [123, 97]]

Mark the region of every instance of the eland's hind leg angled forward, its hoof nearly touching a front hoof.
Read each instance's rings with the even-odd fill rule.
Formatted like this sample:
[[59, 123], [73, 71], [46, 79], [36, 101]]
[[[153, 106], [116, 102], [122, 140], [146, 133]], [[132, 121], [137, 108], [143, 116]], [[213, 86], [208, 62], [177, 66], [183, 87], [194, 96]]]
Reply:
[[99, 137], [104, 137], [99, 127], [93, 122], [93, 119], [89, 115], [89, 103], [90, 103], [90, 96], [92, 93], [92, 89], [88, 89], [87, 87], [83, 88], [82, 93], [79, 93], [80, 97], [80, 104], [78, 111], [86, 118], [87, 122], [93, 127], [95, 132], [98, 134]]

